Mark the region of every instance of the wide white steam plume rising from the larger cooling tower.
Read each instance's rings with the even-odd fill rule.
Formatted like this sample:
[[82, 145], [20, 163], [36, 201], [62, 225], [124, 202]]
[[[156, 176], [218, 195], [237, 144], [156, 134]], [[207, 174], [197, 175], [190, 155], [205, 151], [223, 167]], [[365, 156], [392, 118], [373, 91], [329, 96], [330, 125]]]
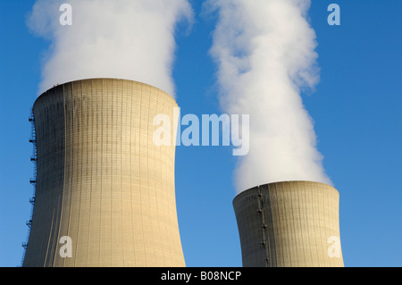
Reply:
[[[62, 4], [72, 25], [59, 21]], [[192, 21], [188, 0], [38, 0], [28, 26], [50, 40], [39, 94], [57, 83], [88, 78], [137, 80], [174, 96], [174, 31]]]

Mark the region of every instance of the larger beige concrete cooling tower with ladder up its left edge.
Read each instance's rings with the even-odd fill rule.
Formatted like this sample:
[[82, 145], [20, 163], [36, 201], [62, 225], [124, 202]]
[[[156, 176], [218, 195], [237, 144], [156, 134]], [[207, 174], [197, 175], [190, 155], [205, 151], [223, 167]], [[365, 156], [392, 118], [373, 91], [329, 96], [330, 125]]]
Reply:
[[174, 133], [175, 107], [172, 96], [131, 80], [77, 80], [38, 97], [35, 204], [22, 266], [185, 266], [175, 144], [153, 141], [157, 114], [171, 118]]

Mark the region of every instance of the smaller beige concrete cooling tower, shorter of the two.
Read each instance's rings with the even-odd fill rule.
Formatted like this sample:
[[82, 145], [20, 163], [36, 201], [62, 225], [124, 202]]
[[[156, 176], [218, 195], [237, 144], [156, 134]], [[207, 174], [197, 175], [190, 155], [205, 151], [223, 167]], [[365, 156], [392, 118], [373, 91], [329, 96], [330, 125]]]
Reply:
[[309, 181], [265, 184], [233, 200], [244, 267], [343, 267], [339, 192]]

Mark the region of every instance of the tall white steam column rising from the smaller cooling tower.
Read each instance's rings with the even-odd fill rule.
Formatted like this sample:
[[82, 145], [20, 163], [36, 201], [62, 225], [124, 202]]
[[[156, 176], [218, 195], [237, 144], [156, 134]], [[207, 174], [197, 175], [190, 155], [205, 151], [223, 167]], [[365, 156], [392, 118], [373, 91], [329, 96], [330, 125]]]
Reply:
[[331, 184], [301, 91], [319, 80], [309, 0], [209, 0], [218, 13], [211, 54], [224, 112], [250, 114], [239, 191], [281, 180]]

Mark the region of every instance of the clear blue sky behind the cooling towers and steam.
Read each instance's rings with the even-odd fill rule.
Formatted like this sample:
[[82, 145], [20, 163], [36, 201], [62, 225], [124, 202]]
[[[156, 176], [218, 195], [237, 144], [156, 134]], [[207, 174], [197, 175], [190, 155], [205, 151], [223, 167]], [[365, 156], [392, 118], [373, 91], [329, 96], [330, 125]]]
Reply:
[[[48, 42], [27, 29], [35, 1], [0, 0], [0, 266], [19, 266], [28, 228], [29, 111]], [[208, 54], [215, 19], [190, 1], [192, 29], [176, 34], [173, 79], [182, 113], [222, 113], [216, 65]], [[339, 4], [341, 24], [327, 22]], [[340, 239], [346, 266], [402, 265], [402, 2], [312, 0], [321, 68], [303, 95], [314, 119], [323, 166], [340, 194]], [[176, 198], [188, 266], [241, 266], [232, 200], [230, 147], [178, 147]]]

